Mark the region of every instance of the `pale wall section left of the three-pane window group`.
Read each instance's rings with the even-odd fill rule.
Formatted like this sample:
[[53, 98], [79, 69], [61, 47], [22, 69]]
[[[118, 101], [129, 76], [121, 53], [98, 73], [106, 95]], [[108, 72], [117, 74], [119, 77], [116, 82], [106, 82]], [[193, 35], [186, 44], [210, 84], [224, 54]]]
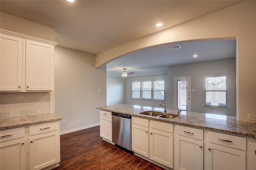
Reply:
[[107, 77], [107, 106], [125, 103], [125, 80]]

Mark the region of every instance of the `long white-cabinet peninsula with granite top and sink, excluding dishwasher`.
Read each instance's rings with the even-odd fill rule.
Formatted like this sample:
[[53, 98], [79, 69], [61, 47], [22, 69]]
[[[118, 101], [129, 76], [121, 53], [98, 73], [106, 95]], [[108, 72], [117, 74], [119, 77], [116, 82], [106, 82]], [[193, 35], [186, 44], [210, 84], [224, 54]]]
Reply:
[[[100, 136], [112, 143], [111, 112], [132, 115], [132, 151], [166, 169], [256, 169], [256, 123], [234, 116], [113, 105], [100, 109]], [[157, 111], [173, 119], [140, 114]], [[122, 134], [121, 134], [122, 135]], [[113, 144], [113, 143], [112, 143]]]

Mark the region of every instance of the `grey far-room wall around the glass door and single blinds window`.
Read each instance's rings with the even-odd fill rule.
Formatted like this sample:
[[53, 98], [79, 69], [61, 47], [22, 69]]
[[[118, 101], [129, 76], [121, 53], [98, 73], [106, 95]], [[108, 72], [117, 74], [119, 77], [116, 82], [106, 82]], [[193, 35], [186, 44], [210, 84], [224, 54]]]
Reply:
[[[228, 108], [218, 109], [203, 107], [204, 105], [204, 76], [228, 74]], [[174, 102], [174, 77], [191, 76], [191, 111], [236, 116], [236, 58], [208, 61], [201, 63], [182, 64], [168, 67], [168, 99]]]

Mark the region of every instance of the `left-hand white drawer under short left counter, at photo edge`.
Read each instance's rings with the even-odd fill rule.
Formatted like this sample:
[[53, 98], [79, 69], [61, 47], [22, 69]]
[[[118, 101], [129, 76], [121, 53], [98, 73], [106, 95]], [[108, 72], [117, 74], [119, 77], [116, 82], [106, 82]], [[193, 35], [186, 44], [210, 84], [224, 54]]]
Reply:
[[0, 142], [25, 137], [25, 127], [0, 131]]

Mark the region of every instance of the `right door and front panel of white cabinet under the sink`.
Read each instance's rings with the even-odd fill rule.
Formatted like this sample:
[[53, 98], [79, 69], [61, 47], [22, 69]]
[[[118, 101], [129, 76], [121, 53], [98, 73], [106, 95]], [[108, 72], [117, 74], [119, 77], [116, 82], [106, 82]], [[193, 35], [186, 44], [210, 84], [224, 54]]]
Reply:
[[149, 158], [173, 168], [173, 124], [149, 121]]

